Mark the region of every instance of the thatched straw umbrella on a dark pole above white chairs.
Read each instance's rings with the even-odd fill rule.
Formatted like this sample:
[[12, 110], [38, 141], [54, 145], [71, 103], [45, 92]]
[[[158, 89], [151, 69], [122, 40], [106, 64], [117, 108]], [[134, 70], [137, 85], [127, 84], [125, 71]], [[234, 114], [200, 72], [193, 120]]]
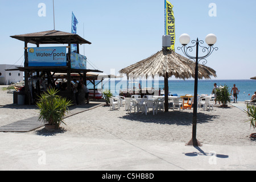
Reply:
[[[123, 73], [129, 77], [154, 77], [155, 75], [164, 77], [164, 95], [165, 95], [165, 111], [168, 111], [168, 78], [175, 76], [175, 78], [188, 79], [195, 77], [194, 61], [179, 55], [174, 51], [162, 50], [154, 55], [139, 61], [129, 67], [123, 68], [119, 73]], [[199, 79], [210, 79], [211, 76], [216, 77], [216, 71], [205, 65], [199, 64]]]

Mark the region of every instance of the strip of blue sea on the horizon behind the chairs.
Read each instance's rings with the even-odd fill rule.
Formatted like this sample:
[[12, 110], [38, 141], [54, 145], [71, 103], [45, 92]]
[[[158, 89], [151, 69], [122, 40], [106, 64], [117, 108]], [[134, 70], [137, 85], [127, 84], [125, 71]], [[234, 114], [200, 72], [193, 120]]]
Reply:
[[[256, 92], [256, 80], [199, 80], [198, 82], [198, 95], [201, 94], [212, 94], [213, 84], [216, 83], [217, 86], [227, 85], [229, 91], [231, 92], [233, 85], [239, 90], [237, 101], [250, 100], [254, 92]], [[93, 89], [93, 84], [87, 82], [88, 88]], [[97, 85], [98, 84], [98, 85]], [[119, 94], [119, 90], [129, 88], [155, 88], [163, 89], [164, 80], [114, 80], [113, 78], [108, 80], [96, 81], [96, 89], [105, 90], [110, 89], [110, 92], [114, 96]], [[184, 96], [185, 94], [194, 94], [194, 80], [168, 80], [169, 92], [170, 94], [177, 94], [177, 96]]]

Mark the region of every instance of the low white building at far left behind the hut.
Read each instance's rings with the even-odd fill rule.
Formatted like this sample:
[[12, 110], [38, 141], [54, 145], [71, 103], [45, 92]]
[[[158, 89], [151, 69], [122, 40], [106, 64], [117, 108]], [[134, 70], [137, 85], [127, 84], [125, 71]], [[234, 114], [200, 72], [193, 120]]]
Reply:
[[5, 71], [6, 69], [15, 69], [19, 65], [0, 64], [0, 85], [9, 85], [12, 82], [23, 81], [23, 72]]

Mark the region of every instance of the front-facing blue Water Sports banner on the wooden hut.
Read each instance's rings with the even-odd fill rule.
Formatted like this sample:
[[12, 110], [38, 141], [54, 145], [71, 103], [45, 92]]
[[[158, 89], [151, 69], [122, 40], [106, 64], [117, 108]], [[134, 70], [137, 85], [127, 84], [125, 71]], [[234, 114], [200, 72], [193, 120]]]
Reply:
[[28, 47], [28, 67], [67, 66], [66, 47]]

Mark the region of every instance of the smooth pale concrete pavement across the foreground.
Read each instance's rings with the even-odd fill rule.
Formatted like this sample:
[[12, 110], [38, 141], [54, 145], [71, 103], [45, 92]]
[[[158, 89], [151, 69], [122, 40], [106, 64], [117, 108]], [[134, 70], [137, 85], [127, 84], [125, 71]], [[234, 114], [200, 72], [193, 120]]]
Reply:
[[256, 169], [256, 146], [204, 144], [193, 147], [182, 142], [25, 133], [0, 133], [0, 138], [0, 170], [140, 170], [154, 173]]

